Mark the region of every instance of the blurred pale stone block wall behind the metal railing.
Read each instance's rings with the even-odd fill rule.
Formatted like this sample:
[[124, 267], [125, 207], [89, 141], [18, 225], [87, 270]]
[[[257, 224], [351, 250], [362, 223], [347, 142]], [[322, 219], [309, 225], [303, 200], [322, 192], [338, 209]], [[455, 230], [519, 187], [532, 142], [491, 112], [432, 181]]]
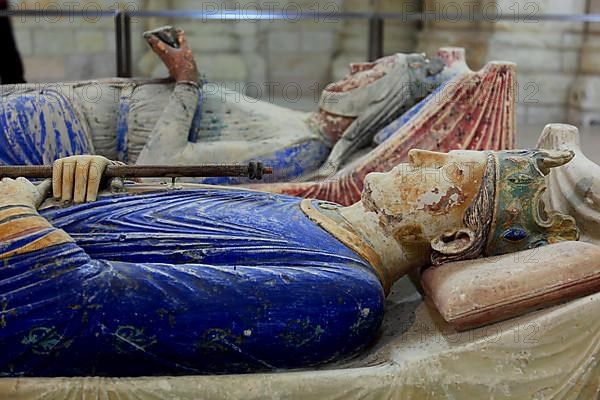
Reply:
[[[148, 51], [141, 33], [176, 24], [188, 33], [198, 64], [210, 81], [263, 100], [299, 109], [316, 107], [321, 89], [367, 58], [368, 22], [296, 21], [304, 12], [369, 11], [411, 13], [425, 10], [443, 18], [423, 24], [386, 21], [385, 53], [434, 54], [441, 46], [463, 46], [476, 69], [490, 60], [518, 65], [518, 122], [570, 121], [600, 124], [600, 24], [525, 22], [539, 14], [600, 13], [595, 0], [23, 0], [13, 8], [85, 10], [88, 18], [13, 18], [26, 77], [57, 82], [115, 75], [112, 18], [95, 18], [98, 9], [244, 10], [284, 9], [286, 21], [134, 20], [134, 72], [164, 76], [166, 70]], [[216, 8], [215, 8], [216, 7]], [[484, 21], [458, 22], [453, 15], [484, 12]], [[433, 15], [433, 14], [432, 14]], [[499, 21], [498, 16], [510, 16]]]

